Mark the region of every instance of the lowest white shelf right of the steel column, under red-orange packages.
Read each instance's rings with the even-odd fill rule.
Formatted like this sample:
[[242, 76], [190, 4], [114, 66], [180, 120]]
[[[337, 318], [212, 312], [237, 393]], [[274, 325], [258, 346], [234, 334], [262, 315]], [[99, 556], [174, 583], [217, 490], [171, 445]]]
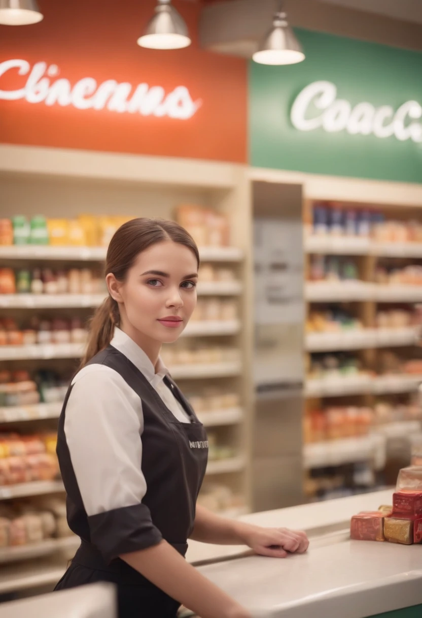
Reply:
[[380, 468], [385, 460], [385, 452], [385, 439], [378, 435], [315, 442], [304, 446], [304, 467], [323, 468], [372, 459], [376, 467]]

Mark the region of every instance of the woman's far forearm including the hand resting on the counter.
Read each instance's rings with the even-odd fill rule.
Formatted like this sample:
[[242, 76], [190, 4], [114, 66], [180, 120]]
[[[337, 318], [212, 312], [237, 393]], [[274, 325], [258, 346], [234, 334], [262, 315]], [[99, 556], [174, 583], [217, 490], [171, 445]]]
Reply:
[[194, 541], [217, 545], [247, 545], [262, 556], [286, 557], [288, 552], [304, 553], [309, 541], [304, 532], [286, 528], [261, 528], [219, 517], [199, 504], [196, 507]]

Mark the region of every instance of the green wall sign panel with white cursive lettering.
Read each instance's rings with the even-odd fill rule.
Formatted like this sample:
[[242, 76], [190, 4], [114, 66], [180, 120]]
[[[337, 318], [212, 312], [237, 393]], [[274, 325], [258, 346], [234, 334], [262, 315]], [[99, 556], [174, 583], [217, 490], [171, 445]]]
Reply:
[[250, 62], [250, 163], [422, 183], [422, 53], [296, 30], [304, 62]]

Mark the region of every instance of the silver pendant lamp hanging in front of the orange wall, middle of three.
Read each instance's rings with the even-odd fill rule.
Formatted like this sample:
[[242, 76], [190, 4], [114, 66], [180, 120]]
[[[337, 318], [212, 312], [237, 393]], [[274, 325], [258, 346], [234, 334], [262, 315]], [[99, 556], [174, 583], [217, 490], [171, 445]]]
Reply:
[[188, 27], [171, 0], [158, 0], [155, 15], [139, 36], [138, 45], [150, 49], [181, 49], [190, 44]]

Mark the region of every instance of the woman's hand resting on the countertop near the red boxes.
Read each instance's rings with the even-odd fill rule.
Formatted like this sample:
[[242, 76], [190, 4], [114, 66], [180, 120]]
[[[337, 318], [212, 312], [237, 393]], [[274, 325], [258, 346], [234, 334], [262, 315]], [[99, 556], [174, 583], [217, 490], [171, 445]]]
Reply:
[[289, 553], [304, 554], [309, 546], [305, 532], [287, 528], [250, 526], [242, 536], [256, 554], [273, 558], [285, 558]]

